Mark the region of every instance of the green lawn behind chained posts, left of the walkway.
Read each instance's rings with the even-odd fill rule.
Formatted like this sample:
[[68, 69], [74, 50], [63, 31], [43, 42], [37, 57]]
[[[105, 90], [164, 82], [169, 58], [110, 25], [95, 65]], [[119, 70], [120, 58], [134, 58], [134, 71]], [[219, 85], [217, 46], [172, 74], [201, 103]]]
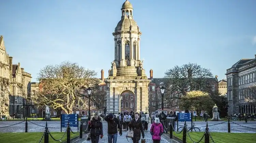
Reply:
[[[64, 132], [51, 132], [52, 136], [58, 140], [60, 139]], [[38, 143], [43, 135], [43, 132], [17, 132], [17, 133], [0, 133], [0, 141], [2, 143]], [[79, 132], [76, 134], [70, 133], [70, 138], [74, 138], [79, 136]], [[67, 140], [67, 134], [61, 140], [62, 142]], [[44, 142], [44, 138], [42, 139], [41, 143]], [[49, 142], [55, 143], [52, 137], [49, 135]]]

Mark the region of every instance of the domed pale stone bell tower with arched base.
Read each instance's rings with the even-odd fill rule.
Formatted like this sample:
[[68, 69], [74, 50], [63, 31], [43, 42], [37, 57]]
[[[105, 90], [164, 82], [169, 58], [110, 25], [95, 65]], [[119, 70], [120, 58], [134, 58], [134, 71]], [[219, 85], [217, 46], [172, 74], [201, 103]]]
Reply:
[[140, 60], [140, 29], [133, 20], [133, 7], [126, 0], [114, 36], [115, 54], [111, 62], [107, 89], [107, 112], [120, 112], [120, 95], [130, 92], [135, 97], [135, 111], [148, 112], [148, 84], [143, 61]]

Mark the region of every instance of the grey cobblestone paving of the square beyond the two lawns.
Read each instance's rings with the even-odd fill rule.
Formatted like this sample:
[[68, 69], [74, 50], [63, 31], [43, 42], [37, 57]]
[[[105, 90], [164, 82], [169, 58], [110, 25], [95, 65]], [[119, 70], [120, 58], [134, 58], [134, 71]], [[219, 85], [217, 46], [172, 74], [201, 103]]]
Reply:
[[[20, 123], [21, 121], [0, 121], [0, 132], [25, 132], [25, 122]], [[34, 124], [32, 124], [32, 123]], [[31, 121], [28, 122], [28, 132], [43, 132], [44, 131], [44, 127], [45, 127], [45, 123], [46, 121]], [[17, 124], [20, 123], [20, 124]], [[228, 132], [228, 123], [225, 122], [223, 124], [219, 124], [222, 123], [221, 121], [212, 121], [212, 122], [208, 122], [209, 130], [212, 132]], [[236, 123], [236, 124], [234, 124]], [[244, 121], [236, 121], [236, 122], [230, 122], [230, 128], [231, 128], [231, 132], [246, 132], [246, 133], [256, 133], [256, 129], [250, 129], [247, 127], [251, 127], [251, 128], [256, 128], [256, 121], [248, 121], [248, 123], [245, 123]], [[10, 126], [13, 124], [17, 124], [14, 126]], [[35, 125], [36, 124], [36, 125]], [[47, 122], [48, 127], [49, 127], [49, 131], [60, 131], [60, 121], [48, 121]], [[105, 126], [106, 122], [103, 121], [103, 124]], [[191, 123], [187, 123], [188, 126], [191, 126]], [[214, 124], [219, 124], [219, 125], [214, 125]], [[237, 125], [239, 124], [239, 125]], [[184, 125], [184, 122], [180, 122], [179, 123], [179, 127], [181, 127], [181, 125]], [[214, 125], [214, 126], [211, 126]], [[242, 126], [240, 126], [242, 125]], [[10, 126], [10, 127], [5, 127], [5, 126]], [[206, 126], [206, 122], [195, 122], [195, 126], [196, 127], [200, 127], [201, 131], [205, 130]], [[244, 127], [243, 127], [244, 126]], [[4, 128], [1, 128], [4, 127]], [[77, 128], [71, 128], [73, 131], [77, 131]], [[62, 128], [62, 131], [65, 131], [66, 128]], [[125, 132], [123, 133], [122, 136], [124, 136]], [[118, 136], [119, 137], [119, 136]]]

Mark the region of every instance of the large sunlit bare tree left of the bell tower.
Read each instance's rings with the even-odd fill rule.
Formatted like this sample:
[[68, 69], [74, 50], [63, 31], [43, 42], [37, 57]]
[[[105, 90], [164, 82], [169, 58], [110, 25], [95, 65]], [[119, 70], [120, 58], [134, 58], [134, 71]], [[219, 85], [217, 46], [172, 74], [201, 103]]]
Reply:
[[[62, 62], [59, 65], [47, 65], [38, 74], [39, 88], [31, 98], [35, 104], [62, 109], [71, 114], [77, 106], [88, 108], [88, 97], [82, 87], [97, 88], [99, 80], [94, 70], [85, 69], [77, 63]], [[94, 94], [92, 95], [92, 97]]]

